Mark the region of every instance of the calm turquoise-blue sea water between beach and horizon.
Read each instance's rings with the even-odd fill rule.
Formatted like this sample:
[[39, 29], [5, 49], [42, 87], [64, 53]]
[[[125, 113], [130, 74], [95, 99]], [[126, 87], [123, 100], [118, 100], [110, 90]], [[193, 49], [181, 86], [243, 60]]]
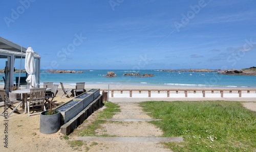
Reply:
[[[76, 70], [77, 71], [77, 70]], [[158, 70], [79, 70], [83, 73], [51, 74], [41, 71], [40, 82], [68, 83], [121, 83], [140, 85], [166, 86], [210, 86], [210, 87], [253, 87], [256, 88], [256, 76], [220, 75], [216, 72], [164, 72]], [[108, 71], [113, 71], [117, 77], [105, 77]], [[124, 73], [154, 74], [154, 77], [123, 76]], [[23, 73], [22, 76], [25, 74]], [[18, 76], [15, 74], [14, 76]]]

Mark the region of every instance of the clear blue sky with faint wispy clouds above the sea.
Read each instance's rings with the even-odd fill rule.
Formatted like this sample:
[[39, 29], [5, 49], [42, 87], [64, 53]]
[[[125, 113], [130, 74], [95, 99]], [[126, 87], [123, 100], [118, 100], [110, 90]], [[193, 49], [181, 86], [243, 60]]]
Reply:
[[41, 69], [241, 69], [255, 65], [254, 0], [1, 1], [1, 36]]

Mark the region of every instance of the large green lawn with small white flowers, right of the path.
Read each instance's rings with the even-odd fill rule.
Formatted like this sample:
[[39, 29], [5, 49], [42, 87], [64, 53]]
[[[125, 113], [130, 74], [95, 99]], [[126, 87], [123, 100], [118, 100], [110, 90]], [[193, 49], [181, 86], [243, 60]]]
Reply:
[[164, 132], [184, 142], [165, 143], [173, 151], [256, 151], [256, 113], [241, 102], [142, 102]]

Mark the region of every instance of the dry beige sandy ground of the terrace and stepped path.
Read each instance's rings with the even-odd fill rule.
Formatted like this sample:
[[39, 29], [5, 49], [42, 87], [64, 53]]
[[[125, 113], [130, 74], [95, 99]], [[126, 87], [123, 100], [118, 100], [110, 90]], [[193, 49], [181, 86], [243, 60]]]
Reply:
[[[60, 91], [62, 93], [62, 91]], [[59, 98], [58, 94], [56, 100], [63, 104], [69, 101]], [[135, 105], [137, 106], [137, 105]], [[250, 110], [256, 111], [256, 102], [246, 102], [244, 106]], [[99, 110], [101, 111], [102, 108]], [[0, 108], [3, 111], [3, 107]], [[94, 120], [95, 116], [99, 113], [95, 112], [88, 118], [87, 125]], [[140, 111], [140, 110], [136, 110]], [[148, 118], [147, 115], [126, 115], [116, 114], [114, 118]], [[72, 148], [68, 141], [77, 139], [77, 136], [70, 136], [69, 140], [63, 139], [63, 135], [58, 131], [55, 134], [45, 135], [39, 132], [39, 115], [28, 117], [27, 114], [13, 113], [8, 119], [4, 121], [4, 117], [0, 116], [0, 151], [170, 151], [161, 144], [157, 143], [116, 143], [116, 142], [84, 142], [82, 147]], [[4, 123], [8, 122], [8, 134], [5, 134]], [[82, 128], [82, 126], [81, 126]], [[80, 128], [80, 129], [81, 129]], [[156, 137], [161, 136], [162, 131], [152, 124], [146, 122], [107, 122], [97, 130], [97, 134], [108, 134], [120, 137]], [[8, 148], [4, 147], [4, 138], [8, 135]]]

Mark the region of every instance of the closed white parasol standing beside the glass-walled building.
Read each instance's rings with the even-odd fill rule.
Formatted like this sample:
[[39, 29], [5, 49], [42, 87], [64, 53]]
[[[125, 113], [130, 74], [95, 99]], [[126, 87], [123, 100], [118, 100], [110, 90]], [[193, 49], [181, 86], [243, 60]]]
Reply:
[[35, 77], [35, 61], [34, 61], [34, 51], [31, 47], [29, 47], [26, 51], [26, 57], [25, 57], [25, 69], [26, 72], [29, 74], [26, 81], [29, 83], [30, 88], [36, 88], [37, 81]]

